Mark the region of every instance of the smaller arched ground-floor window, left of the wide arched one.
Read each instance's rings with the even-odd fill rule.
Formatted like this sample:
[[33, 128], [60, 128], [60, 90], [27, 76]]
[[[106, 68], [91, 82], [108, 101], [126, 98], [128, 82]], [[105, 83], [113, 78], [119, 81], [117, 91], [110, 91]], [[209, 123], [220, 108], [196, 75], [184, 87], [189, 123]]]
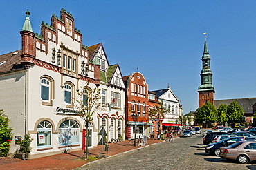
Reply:
[[51, 147], [51, 123], [42, 121], [37, 125], [37, 149]]

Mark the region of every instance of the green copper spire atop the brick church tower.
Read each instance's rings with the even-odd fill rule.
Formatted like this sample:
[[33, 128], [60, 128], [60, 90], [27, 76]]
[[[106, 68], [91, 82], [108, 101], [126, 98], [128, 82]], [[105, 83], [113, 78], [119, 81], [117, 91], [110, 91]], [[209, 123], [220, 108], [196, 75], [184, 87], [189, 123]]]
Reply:
[[202, 56], [203, 69], [201, 70], [201, 85], [199, 86], [198, 92], [208, 91], [215, 92], [212, 85], [212, 70], [210, 70], [210, 54], [208, 52], [208, 46], [206, 42], [206, 36], [204, 41], [204, 49]]

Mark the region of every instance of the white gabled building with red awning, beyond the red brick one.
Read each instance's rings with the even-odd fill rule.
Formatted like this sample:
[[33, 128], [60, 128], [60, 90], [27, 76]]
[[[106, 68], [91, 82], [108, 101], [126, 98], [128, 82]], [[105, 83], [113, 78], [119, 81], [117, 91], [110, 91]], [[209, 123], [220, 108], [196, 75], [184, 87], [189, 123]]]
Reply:
[[183, 109], [179, 98], [172, 92], [172, 89], [168, 86], [167, 89], [159, 89], [152, 92], [156, 94], [159, 102], [162, 102], [166, 108], [170, 109], [169, 113], [165, 114], [165, 118], [163, 119], [163, 130], [175, 129], [175, 127], [181, 126], [177, 118], [183, 116]]

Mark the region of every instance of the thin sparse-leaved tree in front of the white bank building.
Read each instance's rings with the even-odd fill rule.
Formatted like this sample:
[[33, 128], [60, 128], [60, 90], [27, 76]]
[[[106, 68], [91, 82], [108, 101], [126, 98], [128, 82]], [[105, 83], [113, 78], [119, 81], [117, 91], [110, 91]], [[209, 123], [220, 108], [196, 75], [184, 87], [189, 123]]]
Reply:
[[93, 120], [93, 114], [95, 109], [98, 109], [100, 106], [100, 89], [95, 87], [91, 89], [89, 87], [89, 80], [86, 81], [85, 86], [81, 87], [80, 90], [77, 91], [77, 105], [75, 106], [79, 111], [79, 116], [84, 120], [85, 129], [86, 129], [86, 149], [84, 153], [86, 153], [86, 159], [89, 157], [89, 134], [88, 134], [88, 127], [89, 123]]

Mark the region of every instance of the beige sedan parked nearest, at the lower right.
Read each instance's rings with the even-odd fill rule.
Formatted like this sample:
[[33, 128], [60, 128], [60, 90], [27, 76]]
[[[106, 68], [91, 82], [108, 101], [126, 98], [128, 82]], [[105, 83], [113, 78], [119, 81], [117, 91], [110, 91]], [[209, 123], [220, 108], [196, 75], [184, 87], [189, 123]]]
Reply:
[[256, 160], [255, 152], [256, 141], [239, 141], [228, 147], [221, 147], [219, 156], [246, 164], [250, 160]]

